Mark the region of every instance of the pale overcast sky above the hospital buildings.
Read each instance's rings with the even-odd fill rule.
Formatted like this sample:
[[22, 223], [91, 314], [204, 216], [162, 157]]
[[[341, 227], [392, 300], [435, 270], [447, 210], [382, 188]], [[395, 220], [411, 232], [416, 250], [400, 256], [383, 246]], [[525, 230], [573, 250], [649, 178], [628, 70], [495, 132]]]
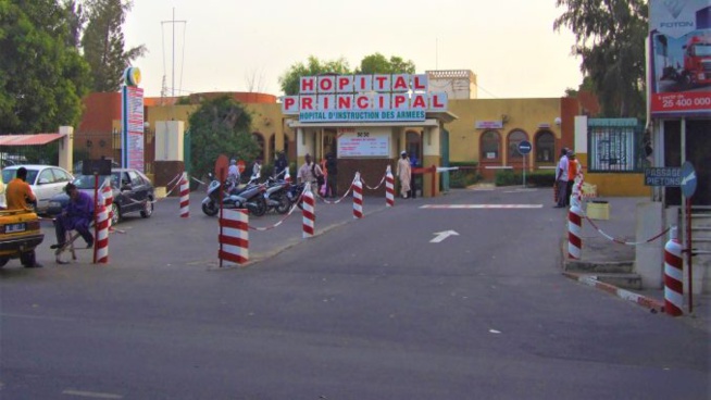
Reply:
[[[165, 23], [174, 9], [186, 23]], [[178, 96], [248, 91], [250, 80], [282, 96], [278, 77], [309, 55], [354, 68], [379, 52], [417, 73], [472, 70], [479, 98], [545, 98], [582, 80], [573, 35], [552, 29], [563, 11], [554, 0], [134, 0], [124, 33], [127, 48], [148, 48], [135, 62], [148, 97], [164, 77], [169, 96], [173, 82]]]

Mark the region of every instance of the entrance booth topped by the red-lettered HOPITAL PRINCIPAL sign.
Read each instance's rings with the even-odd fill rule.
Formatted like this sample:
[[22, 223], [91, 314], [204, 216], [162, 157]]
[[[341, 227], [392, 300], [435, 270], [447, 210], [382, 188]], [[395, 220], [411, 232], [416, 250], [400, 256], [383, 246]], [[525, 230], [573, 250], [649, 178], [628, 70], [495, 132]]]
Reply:
[[[401, 151], [414, 154], [423, 167], [441, 166], [448, 150], [444, 125], [457, 118], [447, 107], [447, 93], [428, 91], [426, 74], [304, 76], [298, 96], [282, 98], [287, 126], [296, 130], [297, 168], [305, 154], [321, 162], [333, 153], [338, 196], [357, 172], [364, 196], [385, 196], [385, 185], [367, 187], [378, 186], [388, 165], [396, 175]], [[434, 171], [424, 174], [422, 196], [438, 196], [439, 180]], [[399, 192], [397, 185], [396, 178]]]

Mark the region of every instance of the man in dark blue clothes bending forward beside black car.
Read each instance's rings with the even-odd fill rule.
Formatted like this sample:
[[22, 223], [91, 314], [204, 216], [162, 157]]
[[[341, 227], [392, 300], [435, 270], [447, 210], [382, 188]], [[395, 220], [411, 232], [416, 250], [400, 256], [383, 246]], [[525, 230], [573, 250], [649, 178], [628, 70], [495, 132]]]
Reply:
[[93, 199], [88, 193], [79, 191], [74, 184], [67, 184], [64, 188], [70, 201], [62, 214], [54, 220], [57, 233], [57, 245], [50, 246], [59, 249], [66, 243], [66, 233], [76, 230], [86, 240], [87, 249], [93, 246], [93, 235], [89, 232], [89, 225], [93, 221]]

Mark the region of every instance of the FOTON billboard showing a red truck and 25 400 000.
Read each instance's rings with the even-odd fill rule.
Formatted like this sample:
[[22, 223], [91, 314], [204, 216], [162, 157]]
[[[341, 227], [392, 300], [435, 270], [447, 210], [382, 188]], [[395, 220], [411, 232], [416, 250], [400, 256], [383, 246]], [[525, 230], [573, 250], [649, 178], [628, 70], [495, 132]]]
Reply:
[[711, 112], [711, 5], [650, 0], [650, 111], [679, 117]]

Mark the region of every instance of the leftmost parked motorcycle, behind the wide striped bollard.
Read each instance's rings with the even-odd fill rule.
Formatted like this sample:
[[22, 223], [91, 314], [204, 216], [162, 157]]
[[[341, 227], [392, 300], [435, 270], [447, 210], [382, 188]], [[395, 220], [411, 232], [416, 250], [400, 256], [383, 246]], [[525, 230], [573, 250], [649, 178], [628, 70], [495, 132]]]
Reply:
[[[264, 199], [264, 185], [250, 180], [242, 188], [237, 188], [229, 182], [221, 184], [210, 174], [208, 196], [202, 199], [202, 212], [205, 215], [214, 216], [220, 212], [220, 197], [223, 196], [222, 207], [225, 209], [247, 209], [254, 216], [262, 216], [266, 213], [267, 205]], [[223, 195], [224, 193], [224, 195]]]

